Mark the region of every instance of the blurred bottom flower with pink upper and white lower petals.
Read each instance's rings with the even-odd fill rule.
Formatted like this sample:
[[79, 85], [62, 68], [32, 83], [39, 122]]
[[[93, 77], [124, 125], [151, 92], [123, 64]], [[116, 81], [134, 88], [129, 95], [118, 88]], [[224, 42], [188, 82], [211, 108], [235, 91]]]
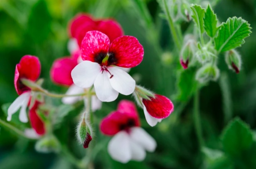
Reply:
[[156, 142], [140, 128], [138, 113], [131, 101], [120, 101], [117, 111], [103, 118], [100, 129], [105, 135], [114, 135], [108, 143], [108, 153], [119, 162], [142, 161], [146, 150], [155, 150]]

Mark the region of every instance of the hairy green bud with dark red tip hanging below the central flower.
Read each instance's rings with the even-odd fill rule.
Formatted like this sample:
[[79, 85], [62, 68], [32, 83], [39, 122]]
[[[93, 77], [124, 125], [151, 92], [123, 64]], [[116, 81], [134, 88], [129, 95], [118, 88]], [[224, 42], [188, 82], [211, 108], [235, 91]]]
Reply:
[[[84, 115], [88, 113], [85, 112]], [[92, 132], [91, 132], [91, 126], [89, 125], [89, 122], [86, 121], [86, 118], [81, 119], [79, 125], [77, 126], [76, 135], [79, 142], [84, 146], [84, 148], [89, 147], [89, 143], [92, 140]]]

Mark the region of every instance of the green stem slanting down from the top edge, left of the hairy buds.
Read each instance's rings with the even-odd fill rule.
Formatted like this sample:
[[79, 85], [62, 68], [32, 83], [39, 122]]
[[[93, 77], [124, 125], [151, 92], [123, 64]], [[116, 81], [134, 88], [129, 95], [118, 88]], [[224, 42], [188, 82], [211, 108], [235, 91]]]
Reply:
[[169, 23], [169, 26], [170, 26], [170, 31], [171, 31], [171, 34], [172, 34], [173, 41], [174, 41], [176, 47], [178, 48], [178, 51], [180, 51], [180, 49], [181, 49], [180, 40], [179, 40], [179, 37], [177, 36], [178, 33], [175, 29], [175, 25], [173, 23], [171, 15], [170, 15], [166, 0], [163, 0], [163, 4], [164, 4], [164, 7], [165, 7], [165, 14], [167, 16], [167, 20], [168, 20], [168, 23]]

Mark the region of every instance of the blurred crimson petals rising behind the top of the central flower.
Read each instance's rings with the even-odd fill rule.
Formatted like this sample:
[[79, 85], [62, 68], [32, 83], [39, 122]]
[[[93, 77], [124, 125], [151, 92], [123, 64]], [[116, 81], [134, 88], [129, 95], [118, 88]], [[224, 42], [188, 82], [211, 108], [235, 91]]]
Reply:
[[122, 27], [113, 19], [94, 19], [88, 14], [78, 14], [69, 25], [70, 35], [77, 40], [80, 47], [88, 31], [101, 31], [108, 36], [110, 42], [123, 36]]

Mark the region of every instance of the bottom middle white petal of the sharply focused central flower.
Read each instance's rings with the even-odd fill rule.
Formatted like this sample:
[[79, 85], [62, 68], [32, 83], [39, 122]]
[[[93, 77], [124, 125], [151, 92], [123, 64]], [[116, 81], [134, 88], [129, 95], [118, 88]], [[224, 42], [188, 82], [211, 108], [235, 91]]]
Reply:
[[95, 82], [94, 88], [98, 99], [101, 101], [114, 101], [118, 97], [118, 92], [111, 87], [108, 77], [108, 72], [99, 73]]

